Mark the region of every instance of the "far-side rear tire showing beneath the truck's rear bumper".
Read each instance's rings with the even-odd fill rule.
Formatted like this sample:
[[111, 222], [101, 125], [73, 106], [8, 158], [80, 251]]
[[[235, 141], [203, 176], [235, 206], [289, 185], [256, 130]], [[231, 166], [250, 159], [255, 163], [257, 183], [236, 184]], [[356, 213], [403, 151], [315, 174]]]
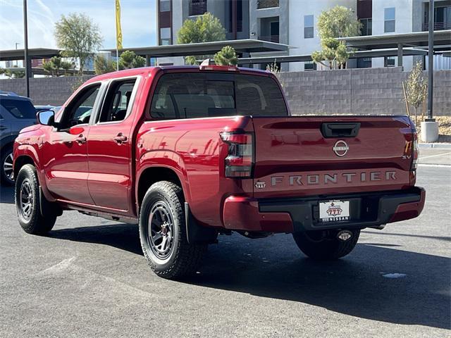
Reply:
[[317, 260], [330, 260], [346, 256], [359, 240], [360, 230], [351, 230], [352, 237], [346, 241], [337, 238], [338, 231], [307, 231], [293, 234], [299, 249]]

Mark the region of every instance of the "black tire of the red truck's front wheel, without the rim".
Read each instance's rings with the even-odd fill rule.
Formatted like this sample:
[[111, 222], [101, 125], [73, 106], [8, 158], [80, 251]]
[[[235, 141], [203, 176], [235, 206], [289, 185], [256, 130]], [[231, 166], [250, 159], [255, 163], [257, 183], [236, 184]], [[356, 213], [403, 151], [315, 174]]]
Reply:
[[[26, 180], [30, 186], [32, 211], [29, 217], [25, 217], [20, 206], [20, 189]], [[16, 177], [16, 188], [14, 189], [16, 201], [16, 211], [22, 229], [28, 234], [47, 234], [55, 225], [56, 213], [49, 211], [47, 215], [42, 215], [39, 201], [39, 182], [37, 180], [36, 169], [31, 164], [25, 164]], [[45, 198], [42, 196], [42, 198]]]

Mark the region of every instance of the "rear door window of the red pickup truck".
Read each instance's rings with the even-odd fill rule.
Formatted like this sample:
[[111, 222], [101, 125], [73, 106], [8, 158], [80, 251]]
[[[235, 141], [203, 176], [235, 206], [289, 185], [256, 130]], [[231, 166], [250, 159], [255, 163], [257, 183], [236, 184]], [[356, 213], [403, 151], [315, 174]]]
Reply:
[[130, 111], [130, 98], [136, 79], [115, 81], [110, 84], [101, 108], [99, 123], [122, 121]]

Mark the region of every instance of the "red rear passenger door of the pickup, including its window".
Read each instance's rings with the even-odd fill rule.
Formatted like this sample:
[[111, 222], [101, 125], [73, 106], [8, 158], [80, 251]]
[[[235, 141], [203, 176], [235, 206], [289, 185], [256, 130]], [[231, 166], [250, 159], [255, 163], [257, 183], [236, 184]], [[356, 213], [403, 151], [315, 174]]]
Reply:
[[138, 77], [109, 83], [87, 139], [89, 192], [97, 206], [130, 210], [133, 101]]

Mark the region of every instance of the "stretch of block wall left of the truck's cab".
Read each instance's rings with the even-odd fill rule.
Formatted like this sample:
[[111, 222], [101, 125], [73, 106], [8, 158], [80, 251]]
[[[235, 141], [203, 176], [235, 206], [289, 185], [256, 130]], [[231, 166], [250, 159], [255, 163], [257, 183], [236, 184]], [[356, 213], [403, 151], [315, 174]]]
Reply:
[[[90, 77], [33, 77], [30, 79], [30, 97], [35, 105], [61, 106], [73, 93], [73, 87]], [[0, 80], [0, 89], [25, 96], [25, 79]]]

